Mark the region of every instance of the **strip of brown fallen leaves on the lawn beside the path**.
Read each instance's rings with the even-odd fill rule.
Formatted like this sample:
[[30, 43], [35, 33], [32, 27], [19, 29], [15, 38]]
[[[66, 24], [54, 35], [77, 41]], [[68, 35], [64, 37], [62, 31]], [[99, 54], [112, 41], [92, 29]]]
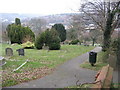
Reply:
[[38, 79], [50, 74], [54, 69], [50, 69], [48, 67], [37, 68], [34, 70], [29, 70], [24, 73], [7, 73], [7, 71], [3, 71], [2, 73], [2, 83], [6, 83], [7, 80], [15, 80], [17, 83], [27, 82], [30, 80]]

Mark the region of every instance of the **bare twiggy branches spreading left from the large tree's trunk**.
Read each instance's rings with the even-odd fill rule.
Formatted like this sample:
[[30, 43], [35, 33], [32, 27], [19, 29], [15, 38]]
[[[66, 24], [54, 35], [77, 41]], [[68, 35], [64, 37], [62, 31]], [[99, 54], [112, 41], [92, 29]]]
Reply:
[[86, 2], [81, 5], [80, 12], [84, 14], [85, 19], [94, 23], [102, 31], [105, 30], [106, 23], [106, 3], [99, 1]]

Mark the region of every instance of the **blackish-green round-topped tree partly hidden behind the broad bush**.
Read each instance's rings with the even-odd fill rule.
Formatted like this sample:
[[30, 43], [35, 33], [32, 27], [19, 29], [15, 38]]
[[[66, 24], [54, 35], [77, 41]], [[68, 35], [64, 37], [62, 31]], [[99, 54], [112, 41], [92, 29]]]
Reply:
[[52, 28], [57, 30], [59, 37], [61, 39], [61, 42], [66, 40], [66, 30], [63, 24], [55, 24], [54, 26], [52, 26]]

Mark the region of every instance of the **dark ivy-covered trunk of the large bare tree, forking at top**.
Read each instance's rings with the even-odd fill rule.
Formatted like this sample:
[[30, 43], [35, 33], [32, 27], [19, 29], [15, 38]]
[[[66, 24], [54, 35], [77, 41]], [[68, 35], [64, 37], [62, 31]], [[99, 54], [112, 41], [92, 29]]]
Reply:
[[110, 42], [111, 42], [111, 35], [113, 32], [113, 19], [115, 14], [119, 11], [119, 5], [120, 5], [120, 1], [117, 3], [117, 5], [115, 6], [115, 8], [111, 11], [110, 10], [110, 2], [109, 2], [109, 7], [108, 7], [108, 17], [107, 17], [107, 21], [106, 21], [106, 27], [105, 27], [105, 31], [104, 31], [104, 41], [103, 41], [103, 51], [106, 51], [107, 49], [109, 49], [110, 47]]

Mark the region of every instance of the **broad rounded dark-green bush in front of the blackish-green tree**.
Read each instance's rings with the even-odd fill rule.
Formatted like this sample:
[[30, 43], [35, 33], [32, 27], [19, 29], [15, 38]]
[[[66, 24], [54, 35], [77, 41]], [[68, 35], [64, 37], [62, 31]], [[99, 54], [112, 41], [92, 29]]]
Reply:
[[60, 49], [60, 38], [55, 29], [47, 29], [38, 35], [35, 41], [35, 46], [37, 49], [42, 49], [42, 46], [48, 46], [50, 50]]

